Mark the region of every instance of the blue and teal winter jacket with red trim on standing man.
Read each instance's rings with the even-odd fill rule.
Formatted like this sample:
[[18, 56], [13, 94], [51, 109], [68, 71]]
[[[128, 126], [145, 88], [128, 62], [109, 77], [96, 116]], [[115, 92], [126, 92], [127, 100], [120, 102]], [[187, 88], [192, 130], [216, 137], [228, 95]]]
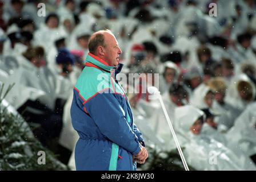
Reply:
[[[89, 53], [74, 88], [71, 120], [78, 132], [77, 170], [135, 170], [142, 134], [134, 124], [129, 101], [115, 76], [122, 64], [110, 67]], [[114, 72], [111, 72], [114, 71]]]

